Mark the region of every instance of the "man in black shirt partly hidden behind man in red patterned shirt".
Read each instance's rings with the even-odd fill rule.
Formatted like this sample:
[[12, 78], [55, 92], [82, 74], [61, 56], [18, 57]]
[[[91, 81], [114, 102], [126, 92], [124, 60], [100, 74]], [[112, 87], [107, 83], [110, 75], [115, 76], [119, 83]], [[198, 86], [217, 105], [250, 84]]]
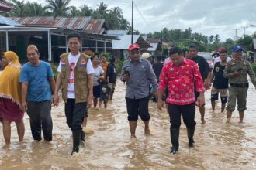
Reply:
[[[211, 71], [209, 68], [209, 64], [207, 63], [206, 59], [203, 58], [202, 56], [198, 56], [198, 48], [195, 45], [191, 45], [189, 46], [189, 57], [188, 59], [191, 59], [192, 61], [194, 61], [195, 63], [197, 63], [197, 65], [199, 66], [199, 71], [201, 73], [202, 76], [202, 80], [205, 83], [205, 87], [206, 90], [209, 89], [209, 80], [210, 80], [210, 76], [211, 76]], [[199, 97], [199, 93], [195, 92], [195, 98]], [[201, 106], [199, 107], [199, 111], [201, 114], [201, 121], [202, 124], [205, 124], [205, 112], [206, 112], [206, 108], [205, 108], [205, 104], [200, 104]]]

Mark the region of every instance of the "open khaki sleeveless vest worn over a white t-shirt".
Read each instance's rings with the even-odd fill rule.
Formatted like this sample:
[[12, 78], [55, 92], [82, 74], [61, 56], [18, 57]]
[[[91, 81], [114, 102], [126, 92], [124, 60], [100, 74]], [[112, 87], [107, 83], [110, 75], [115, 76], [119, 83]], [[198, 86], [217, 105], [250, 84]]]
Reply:
[[[68, 63], [69, 53], [61, 55], [61, 92], [62, 98], [67, 103], [67, 87], [70, 73], [70, 66]], [[87, 76], [87, 62], [90, 56], [80, 53], [78, 63], [74, 68], [74, 97], [75, 103], [87, 102], [88, 99], [88, 76]]]

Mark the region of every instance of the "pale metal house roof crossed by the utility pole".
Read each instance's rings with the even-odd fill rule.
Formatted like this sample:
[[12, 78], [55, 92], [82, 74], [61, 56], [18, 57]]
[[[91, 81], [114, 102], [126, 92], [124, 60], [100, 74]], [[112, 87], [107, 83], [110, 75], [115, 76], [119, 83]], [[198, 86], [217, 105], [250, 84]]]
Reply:
[[[123, 35], [118, 36], [120, 40], [113, 40], [112, 41], [112, 49], [128, 49], [131, 44], [131, 35]], [[140, 35], [133, 35], [133, 42], [136, 42], [140, 45], [140, 48], [149, 48], [150, 45], [140, 36]]]

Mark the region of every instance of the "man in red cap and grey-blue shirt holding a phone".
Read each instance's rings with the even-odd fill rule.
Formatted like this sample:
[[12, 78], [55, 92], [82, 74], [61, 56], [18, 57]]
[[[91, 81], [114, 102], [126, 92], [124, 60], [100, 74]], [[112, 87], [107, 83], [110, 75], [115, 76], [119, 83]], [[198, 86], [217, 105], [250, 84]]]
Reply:
[[151, 63], [140, 58], [140, 46], [133, 43], [129, 46], [130, 59], [123, 63], [121, 80], [126, 82], [126, 106], [130, 125], [131, 138], [136, 138], [138, 116], [144, 121], [145, 134], [150, 134], [148, 113], [148, 81], [152, 83], [154, 95], [157, 96], [157, 78]]

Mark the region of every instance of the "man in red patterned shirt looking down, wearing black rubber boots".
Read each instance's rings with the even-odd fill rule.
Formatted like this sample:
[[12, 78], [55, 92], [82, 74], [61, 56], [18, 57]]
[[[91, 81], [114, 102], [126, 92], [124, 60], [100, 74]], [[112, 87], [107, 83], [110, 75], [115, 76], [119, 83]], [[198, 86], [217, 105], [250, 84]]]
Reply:
[[[189, 147], [194, 146], [195, 131], [195, 90], [200, 93], [196, 99], [199, 106], [205, 103], [204, 83], [199, 68], [195, 62], [185, 59], [182, 50], [174, 47], [170, 50], [171, 62], [163, 67], [161, 71], [157, 107], [162, 109], [162, 95], [168, 88], [168, 112], [170, 116], [171, 153], [178, 151], [178, 136], [181, 126], [181, 114], [187, 127]], [[195, 84], [195, 86], [194, 86]]]

